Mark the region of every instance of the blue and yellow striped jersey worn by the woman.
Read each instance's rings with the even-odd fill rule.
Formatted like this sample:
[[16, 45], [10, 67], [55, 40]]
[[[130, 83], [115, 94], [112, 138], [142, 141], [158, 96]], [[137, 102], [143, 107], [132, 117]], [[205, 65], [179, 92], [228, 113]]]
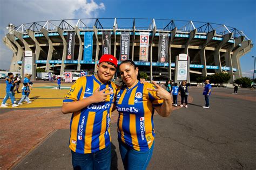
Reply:
[[154, 108], [163, 104], [151, 83], [140, 83], [132, 88], [117, 90], [116, 108], [118, 117], [118, 138], [137, 151], [147, 151], [154, 140]]

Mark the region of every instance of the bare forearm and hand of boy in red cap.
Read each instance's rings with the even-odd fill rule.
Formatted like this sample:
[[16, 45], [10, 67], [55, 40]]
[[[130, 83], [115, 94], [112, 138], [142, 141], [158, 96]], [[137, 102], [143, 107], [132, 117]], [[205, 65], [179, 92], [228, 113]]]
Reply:
[[95, 92], [93, 93], [92, 96], [84, 98], [83, 100], [79, 101], [73, 101], [70, 103], [63, 103], [62, 105], [62, 112], [63, 114], [69, 114], [72, 112], [76, 112], [79, 110], [82, 110], [83, 108], [86, 108], [92, 103], [99, 103], [99, 102], [104, 102], [105, 99], [107, 98], [107, 95], [110, 95], [111, 93], [104, 93], [106, 90], [109, 90], [110, 88], [105, 88], [101, 91], [99, 91], [98, 87]]

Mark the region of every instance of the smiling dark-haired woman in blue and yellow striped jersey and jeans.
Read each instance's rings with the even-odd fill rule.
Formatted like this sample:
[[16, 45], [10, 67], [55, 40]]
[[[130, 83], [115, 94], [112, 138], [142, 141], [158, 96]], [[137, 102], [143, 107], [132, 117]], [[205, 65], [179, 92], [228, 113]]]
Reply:
[[154, 147], [153, 115], [171, 114], [172, 98], [157, 83], [140, 83], [138, 67], [131, 60], [123, 61], [120, 75], [125, 83], [117, 91], [119, 150], [125, 169], [146, 169]]

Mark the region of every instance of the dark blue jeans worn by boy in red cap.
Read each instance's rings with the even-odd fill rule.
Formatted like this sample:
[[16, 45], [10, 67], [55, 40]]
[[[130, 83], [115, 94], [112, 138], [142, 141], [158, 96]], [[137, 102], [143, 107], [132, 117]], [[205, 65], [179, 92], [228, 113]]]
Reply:
[[94, 153], [76, 153], [71, 150], [74, 169], [110, 169], [111, 144]]

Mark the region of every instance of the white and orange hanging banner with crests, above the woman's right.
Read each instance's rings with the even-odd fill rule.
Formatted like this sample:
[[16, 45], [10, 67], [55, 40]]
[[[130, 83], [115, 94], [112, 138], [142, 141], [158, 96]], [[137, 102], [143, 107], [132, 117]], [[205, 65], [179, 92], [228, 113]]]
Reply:
[[140, 33], [140, 45], [139, 45], [139, 61], [149, 60], [149, 33]]

